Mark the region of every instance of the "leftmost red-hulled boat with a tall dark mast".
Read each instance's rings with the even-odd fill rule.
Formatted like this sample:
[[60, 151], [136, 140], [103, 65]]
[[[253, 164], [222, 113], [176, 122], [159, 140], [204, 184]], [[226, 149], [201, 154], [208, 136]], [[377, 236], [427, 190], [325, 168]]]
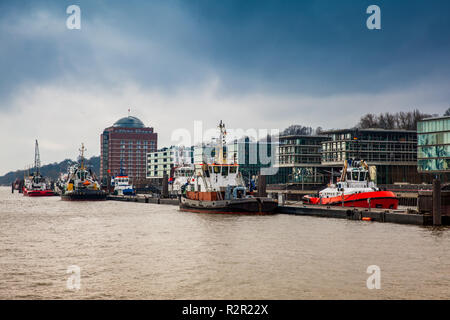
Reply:
[[54, 196], [51, 183], [40, 173], [41, 160], [39, 155], [39, 144], [36, 140], [34, 147], [34, 172], [24, 179], [23, 195], [28, 197], [48, 197]]

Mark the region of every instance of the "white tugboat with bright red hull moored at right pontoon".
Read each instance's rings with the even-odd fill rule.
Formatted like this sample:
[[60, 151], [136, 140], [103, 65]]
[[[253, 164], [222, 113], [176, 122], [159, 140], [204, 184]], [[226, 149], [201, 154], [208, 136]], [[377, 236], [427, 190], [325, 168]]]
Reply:
[[[373, 168], [373, 169], [372, 169]], [[376, 167], [371, 167], [375, 172]], [[371, 177], [372, 176], [372, 177]], [[304, 196], [303, 203], [327, 206], [397, 209], [398, 198], [392, 191], [381, 191], [363, 160], [346, 160], [341, 177], [319, 192], [318, 197]]]

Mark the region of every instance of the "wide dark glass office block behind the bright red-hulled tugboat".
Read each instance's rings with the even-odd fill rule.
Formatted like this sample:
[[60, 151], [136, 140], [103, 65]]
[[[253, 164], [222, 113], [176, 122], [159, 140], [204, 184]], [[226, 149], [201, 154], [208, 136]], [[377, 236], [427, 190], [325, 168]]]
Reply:
[[344, 160], [360, 159], [377, 167], [377, 183], [421, 183], [417, 173], [414, 130], [342, 129], [324, 132], [322, 164], [341, 168]]

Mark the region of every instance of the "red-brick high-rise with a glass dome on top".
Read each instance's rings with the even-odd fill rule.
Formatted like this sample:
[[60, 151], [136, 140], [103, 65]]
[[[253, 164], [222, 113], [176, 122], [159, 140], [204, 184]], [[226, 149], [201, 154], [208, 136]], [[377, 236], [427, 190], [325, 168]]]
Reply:
[[136, 117], [128, 116], [116, 121], [100, 135], [100, 178], [120, 173], [121, 167], [136, 184], [146, 178], [148, 152], [157, 150], [158, 135]]

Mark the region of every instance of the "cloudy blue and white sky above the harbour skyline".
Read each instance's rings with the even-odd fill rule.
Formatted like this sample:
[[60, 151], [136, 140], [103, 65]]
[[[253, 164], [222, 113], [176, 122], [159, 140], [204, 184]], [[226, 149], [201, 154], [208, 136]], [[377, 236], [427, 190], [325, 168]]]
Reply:
[[[369, 5], [381, 29], [369, 30]], [[68, 29], [66, 9], [81, 9]], [[158, 133], [354, 126], [450, 107], [450, 1], [0, 1], [0, 175], [75, 159], [131, 109]]]

